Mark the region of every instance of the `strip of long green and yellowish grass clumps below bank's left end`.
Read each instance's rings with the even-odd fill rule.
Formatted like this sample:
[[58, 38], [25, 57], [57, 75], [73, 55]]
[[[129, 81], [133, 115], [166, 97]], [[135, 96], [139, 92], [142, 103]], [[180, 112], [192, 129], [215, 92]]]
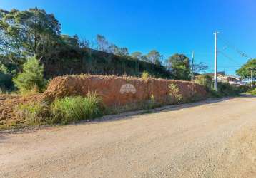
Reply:
[[56, 99], [53, 103], [27, 103], [16, 108], [16, 115], [26, 125], [68, 124], [79, 120], [92, 120], [106, 113], [96, 93], [86, 97], [74, 96]]

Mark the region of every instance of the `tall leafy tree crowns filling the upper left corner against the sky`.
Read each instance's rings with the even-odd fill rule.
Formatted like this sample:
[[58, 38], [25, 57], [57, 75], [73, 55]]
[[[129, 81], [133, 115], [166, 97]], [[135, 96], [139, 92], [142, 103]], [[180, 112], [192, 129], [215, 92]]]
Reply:
[[[4, 54], [11, 58], [41, 56], [58, 41], [60, 24], [43, 9], [0, 10], [0, 36]], [[15, 55], [14, 55], [15, 54]]]

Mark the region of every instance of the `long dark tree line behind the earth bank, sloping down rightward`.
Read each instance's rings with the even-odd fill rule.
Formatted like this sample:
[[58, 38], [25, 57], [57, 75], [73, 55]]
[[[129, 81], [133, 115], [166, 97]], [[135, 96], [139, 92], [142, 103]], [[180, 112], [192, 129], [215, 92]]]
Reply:
[[102, 35], [97, 35], [96, 41], [87, 41], [77, 35], [61, 34], [59, 21], [44, 9], [0, 10], [0, 38], [0, 61], [11, 77], [21, 73], [26, 58], [36, 56], [44, 64], [46, 78], [79, 73], [140, 76], [147, 70], [156, 77], [189, 79], [188, 58], [182, 60], [185, 65], [172, 65], [167, 71], [157, 50], [129, 56], [128, 48], [119, 47]]

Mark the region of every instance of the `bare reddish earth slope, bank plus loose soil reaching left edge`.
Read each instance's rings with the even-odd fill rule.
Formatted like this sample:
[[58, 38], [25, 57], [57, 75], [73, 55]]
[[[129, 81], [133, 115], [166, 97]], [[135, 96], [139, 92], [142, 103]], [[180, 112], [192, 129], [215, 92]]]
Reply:
[[[56, 98], [71, 95], [85, 96], [89, 92], [96, 92], [107, 107], [118, 108], [120, 105], [142, 103], [152, 100], [169, 105], [177, 100], [167, 101], [172, 93], [169, 85], [177, 88], [177, 94], [183, 103], [203, 100], [207, 98], [205, 89], [195, 83], [178, 80], [164, 80], [154, 78], [132, 78], [104, 75], [67, 75], [51, 80], [47, 90], [38, 95], [22, 97], [21, 95], [0, 95], [0, 129], [1, 125], [16, 125], [23, 123], [15, 114], [15, 108], [21, 103], [46, 101], [51, 103]], [[174, 88], [174, 89], [175, 89]]]

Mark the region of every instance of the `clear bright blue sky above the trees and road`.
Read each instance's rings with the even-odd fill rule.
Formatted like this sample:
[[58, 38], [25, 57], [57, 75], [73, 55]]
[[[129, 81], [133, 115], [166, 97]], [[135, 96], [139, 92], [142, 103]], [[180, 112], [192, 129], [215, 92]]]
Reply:
[[[102, 34], [129, 52], [157, 49], [164, 56], [185, 53], [213, 70], [215, 30], [240, 51], [256, 58], [255, 0], [0, 0], [1, 9], [37, 6], [53, 13], [62, 33], [92, 40]], [[235, 73], [247, 61], [220, 41], [219, 70]]]

